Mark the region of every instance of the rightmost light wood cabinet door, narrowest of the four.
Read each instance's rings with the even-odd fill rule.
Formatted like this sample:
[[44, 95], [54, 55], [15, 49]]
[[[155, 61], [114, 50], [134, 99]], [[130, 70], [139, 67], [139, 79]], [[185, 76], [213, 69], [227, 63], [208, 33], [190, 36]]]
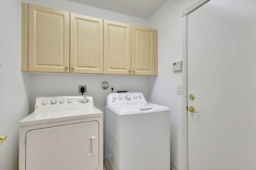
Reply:
[[155, 75], [155, 30], [132, 25], [132, 75]]

